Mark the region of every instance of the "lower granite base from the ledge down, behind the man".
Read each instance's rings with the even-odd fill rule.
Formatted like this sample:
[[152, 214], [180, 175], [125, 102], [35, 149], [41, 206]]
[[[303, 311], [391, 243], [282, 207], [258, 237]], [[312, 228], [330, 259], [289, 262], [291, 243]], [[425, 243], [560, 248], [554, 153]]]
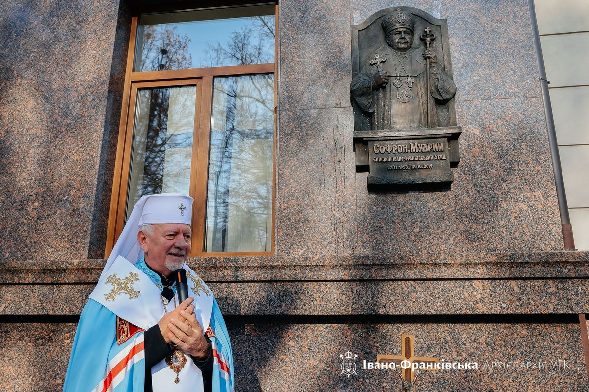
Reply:
[[[284, 266], [228, 258], [192, 259], [190, 265], [226, 316], [237, 391], [394, 390], [396, 377], [384, 371], [342, 376], [339, 354], [351, 350], [359, 364], [376, 354], [396, 355], [401, 334], [415, 336], [416, 354], [479, 366], [422, 373], [418, 390], [589, 390], [577, 316], [589, 312], [589, 252], [449, 257], [454, 262], [383, 258], [355, 264], [350, 258], [348, 264], [290, 260]], [[0, 269], [4, 390], [61, 386], [77, 315], [102, 265], [12, 262]], [[14, 365], [23, 356], [48, 361], [32, 371], [28, 364]], [[547, 364], [497, 367], [538, 361]], [[45, 375], [50, 380], [42, 383]]]

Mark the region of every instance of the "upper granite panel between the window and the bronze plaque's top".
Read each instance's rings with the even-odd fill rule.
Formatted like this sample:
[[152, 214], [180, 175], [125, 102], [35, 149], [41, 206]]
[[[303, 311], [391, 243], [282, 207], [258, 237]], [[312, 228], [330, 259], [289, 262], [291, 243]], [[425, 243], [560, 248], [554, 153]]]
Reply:
[[350, 106], [349, 0], [280, 2], [279, 108]]

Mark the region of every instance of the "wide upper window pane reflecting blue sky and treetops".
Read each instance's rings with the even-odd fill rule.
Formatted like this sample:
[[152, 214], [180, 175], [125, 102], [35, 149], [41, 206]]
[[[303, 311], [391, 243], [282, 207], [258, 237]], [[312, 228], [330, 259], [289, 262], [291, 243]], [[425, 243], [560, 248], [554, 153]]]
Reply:
[[274, 62], [275, 6], [142, 15], [134, 71]]

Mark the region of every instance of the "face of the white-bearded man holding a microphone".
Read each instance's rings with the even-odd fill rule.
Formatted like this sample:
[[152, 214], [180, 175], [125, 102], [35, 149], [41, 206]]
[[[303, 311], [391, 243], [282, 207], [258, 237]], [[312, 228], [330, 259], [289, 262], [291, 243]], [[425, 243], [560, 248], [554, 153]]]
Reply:
[[137, 235], [145, 262], [157, 272], [169, 275], [182, 268], [191, 249], [192, 231], [188, 225], [153, 225]]

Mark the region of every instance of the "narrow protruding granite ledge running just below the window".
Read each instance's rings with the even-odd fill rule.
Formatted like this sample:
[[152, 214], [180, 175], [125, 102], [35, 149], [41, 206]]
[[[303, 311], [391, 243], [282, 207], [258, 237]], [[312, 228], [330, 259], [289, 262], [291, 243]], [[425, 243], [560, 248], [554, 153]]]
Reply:
[[[10, 261], [0, 284], [98, 282], [105, 260]], [[589, 252], [436, 253], [316, 257], [203, 257], [188, 264], [206, 282], [546, 279], [589, 277]]]

